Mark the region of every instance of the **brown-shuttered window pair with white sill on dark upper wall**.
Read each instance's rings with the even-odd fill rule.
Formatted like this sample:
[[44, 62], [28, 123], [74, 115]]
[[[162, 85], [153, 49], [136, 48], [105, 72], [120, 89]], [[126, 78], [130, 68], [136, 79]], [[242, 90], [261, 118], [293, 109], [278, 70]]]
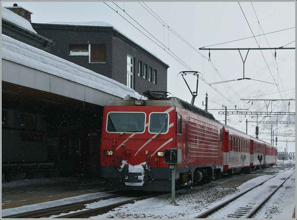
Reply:
[[106, 63], [106, 44], [70, 44], [69, 56], [89, 56], [89, 63]]

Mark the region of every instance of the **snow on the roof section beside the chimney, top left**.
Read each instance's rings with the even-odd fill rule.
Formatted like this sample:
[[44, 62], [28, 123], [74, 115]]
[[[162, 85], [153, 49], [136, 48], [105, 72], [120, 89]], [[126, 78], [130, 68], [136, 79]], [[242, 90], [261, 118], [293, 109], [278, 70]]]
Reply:
[[28, 20], [26, 20], [25, 18], [22, 18], [21, 16], [15, 14], [14, 12], [1, 7], [1, 18], [4, 18], [5, 20], [8, 20], [28, 31], [31, 31], [35, 34], [37, 34], [37, 32], [32, 28], [30, 22]]

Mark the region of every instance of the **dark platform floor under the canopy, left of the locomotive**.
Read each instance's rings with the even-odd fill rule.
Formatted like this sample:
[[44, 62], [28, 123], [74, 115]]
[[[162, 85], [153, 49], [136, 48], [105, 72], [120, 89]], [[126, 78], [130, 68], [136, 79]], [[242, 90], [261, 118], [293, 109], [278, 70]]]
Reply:
[[104, 188], [101, 178], [68, 176], [2, 182], [1, 208], [16, 208], [94, 193]]

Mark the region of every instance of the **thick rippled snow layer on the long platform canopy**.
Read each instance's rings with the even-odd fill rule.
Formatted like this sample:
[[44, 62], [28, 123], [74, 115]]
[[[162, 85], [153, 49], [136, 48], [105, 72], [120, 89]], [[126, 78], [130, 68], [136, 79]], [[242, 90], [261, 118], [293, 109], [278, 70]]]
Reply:
[[85, 86], [124, 98], [140, 98], [133, 89], [89, 69], [83, 68], [2, 34], [2, 59], [62, 77]]

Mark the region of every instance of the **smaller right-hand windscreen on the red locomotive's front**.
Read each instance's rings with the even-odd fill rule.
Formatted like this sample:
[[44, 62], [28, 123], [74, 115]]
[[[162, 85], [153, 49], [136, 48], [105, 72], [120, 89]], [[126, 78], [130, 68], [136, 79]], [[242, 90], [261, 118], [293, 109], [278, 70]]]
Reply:
[[167, 133], [169, 121], [168, 119], [168, 113], [151, 113], [149, 116], [149, 133]]

